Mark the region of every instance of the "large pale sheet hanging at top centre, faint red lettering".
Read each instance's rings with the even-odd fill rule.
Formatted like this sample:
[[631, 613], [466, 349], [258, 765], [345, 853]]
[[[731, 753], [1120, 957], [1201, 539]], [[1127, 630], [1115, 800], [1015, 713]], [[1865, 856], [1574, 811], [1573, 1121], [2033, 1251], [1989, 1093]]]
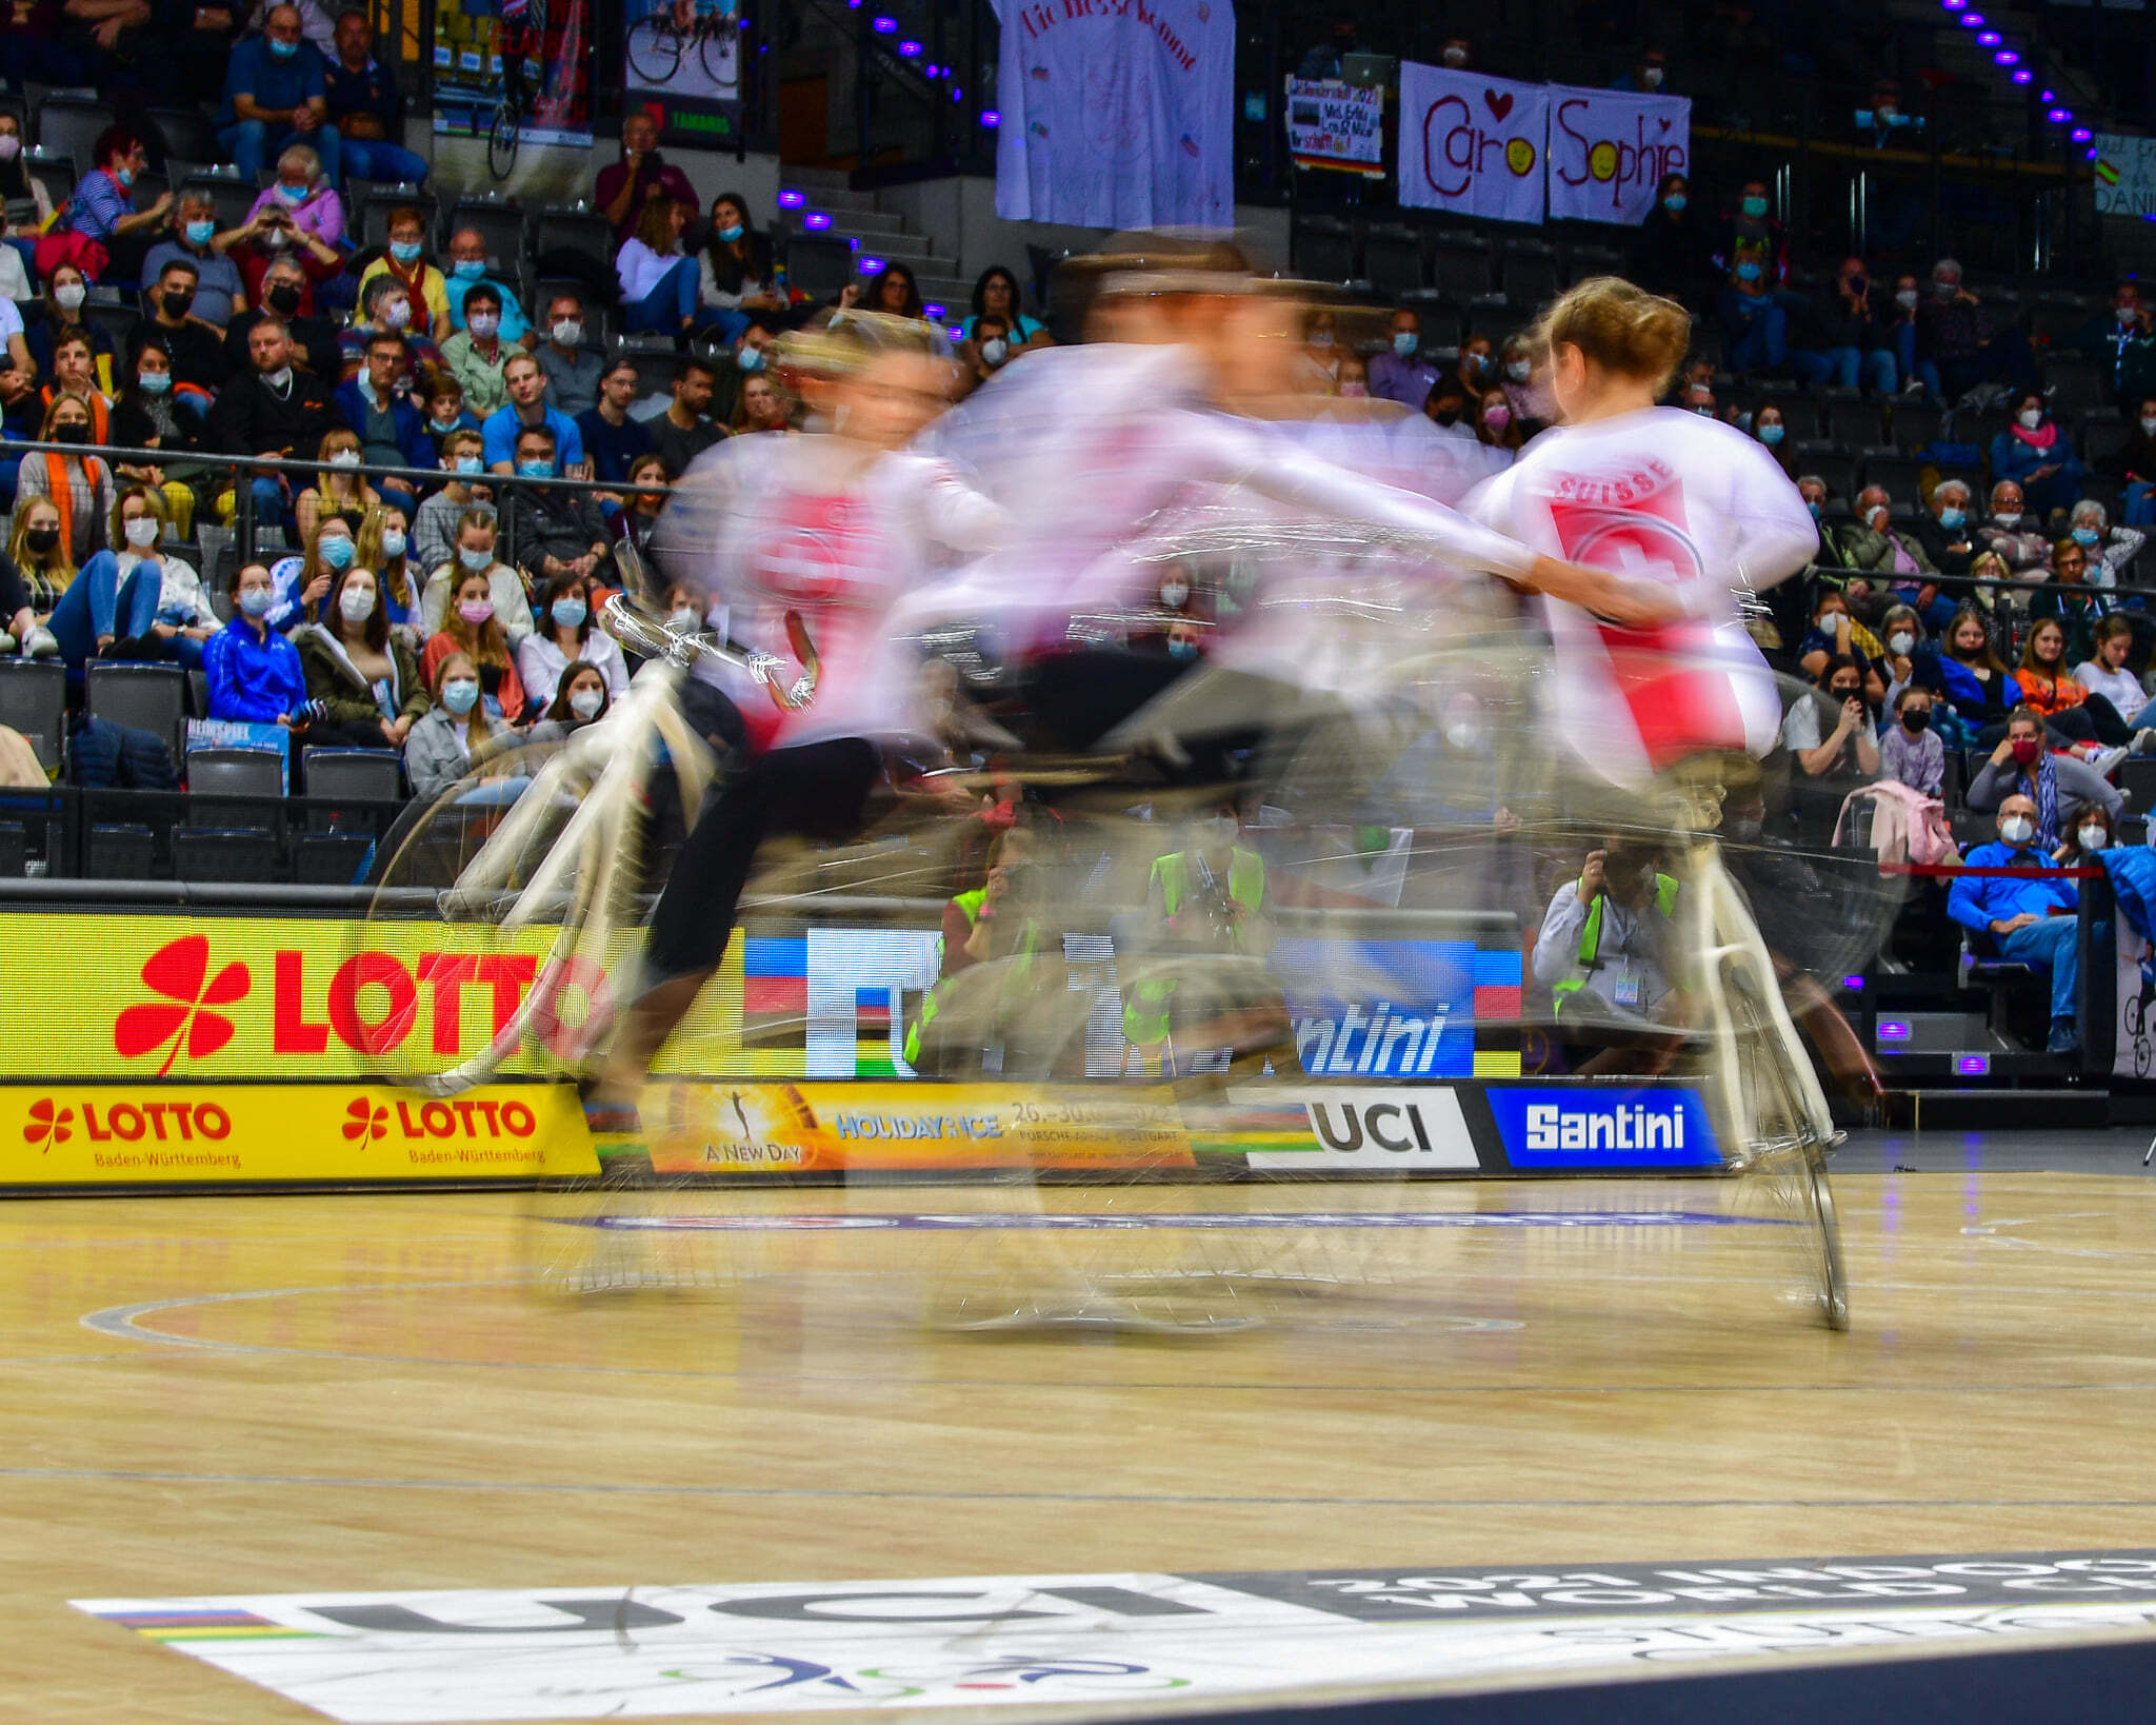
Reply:
[[1235, 222], [1229, 0], [998, 0], [996, 216]]

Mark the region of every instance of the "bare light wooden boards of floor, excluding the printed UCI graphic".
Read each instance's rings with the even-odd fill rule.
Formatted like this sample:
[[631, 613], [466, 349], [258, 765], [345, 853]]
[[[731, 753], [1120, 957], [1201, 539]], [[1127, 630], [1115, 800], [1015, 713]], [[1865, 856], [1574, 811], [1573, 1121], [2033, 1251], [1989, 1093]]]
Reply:
[[573, 1302], [533, 1287], [517, 1197], [11, 1203], [0, 1714], [315, 1716], [71, 1598], [2156, 1546], [2156, 1186], [1839, 1195], [1850, 1335], [1785, 1298], [1768, 1229], [1531, 1225], [1358, 1233], [1360, 1294], [1205, 1341], [914, 1322], [962, 1251], [1091, 1272], [1143, 1229], [755, 1233], [737, 1296]]

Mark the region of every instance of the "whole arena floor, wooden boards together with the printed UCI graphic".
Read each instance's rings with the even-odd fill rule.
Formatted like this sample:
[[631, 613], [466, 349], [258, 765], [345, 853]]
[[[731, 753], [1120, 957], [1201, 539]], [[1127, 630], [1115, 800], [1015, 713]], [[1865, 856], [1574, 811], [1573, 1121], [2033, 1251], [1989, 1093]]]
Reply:
[[[2147, 1632], [2143, 1143], [1854, 1145], [1850, 1335], [1731, 1182], [1259, 1188], [1425, 1225], [1166, 1251], [1158, 1203], [987, 1233], [862, 1225], [949, 1188], [757, 1192], [703, 1259], [752, 1281], [584, 1300], [515, 1195], [11, 1203], [0, 1712], [1072, 1714]], [[968, 1261], [1190, 1274], [1259, 1233], [1335, 1292], [1199, 1339], [921, 1322]]]

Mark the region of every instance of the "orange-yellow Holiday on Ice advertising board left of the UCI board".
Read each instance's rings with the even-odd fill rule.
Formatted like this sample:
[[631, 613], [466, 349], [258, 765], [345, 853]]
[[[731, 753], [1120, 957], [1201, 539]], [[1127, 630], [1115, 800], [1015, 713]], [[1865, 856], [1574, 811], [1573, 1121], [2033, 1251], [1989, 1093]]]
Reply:
[[1192, 1167], [1175, 1098], [994, 1085], [655, 1085], [658, 1173]]

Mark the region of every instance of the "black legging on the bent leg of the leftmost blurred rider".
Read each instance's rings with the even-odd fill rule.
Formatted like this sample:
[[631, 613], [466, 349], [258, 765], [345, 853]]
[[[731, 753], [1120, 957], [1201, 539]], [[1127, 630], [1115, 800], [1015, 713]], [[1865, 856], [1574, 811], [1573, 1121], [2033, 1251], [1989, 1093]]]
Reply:
[[681, 845], [651, 912], [645, 985], [711, 970], [727, 955], [733, 912], [763, 839], [772, 832], [808, 839], [858, 832], [882, 763], [882, 750], [867, 737], [774, 748], [750, 761], [705, 804]]

